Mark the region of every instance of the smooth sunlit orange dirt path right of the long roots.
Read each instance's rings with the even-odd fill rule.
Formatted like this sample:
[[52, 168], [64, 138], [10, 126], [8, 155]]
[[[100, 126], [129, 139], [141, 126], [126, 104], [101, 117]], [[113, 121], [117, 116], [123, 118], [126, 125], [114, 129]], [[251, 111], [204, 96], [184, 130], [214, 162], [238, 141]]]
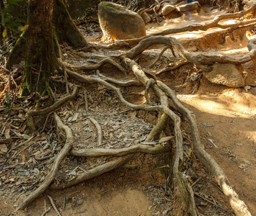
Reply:
[[239, 91], [180, 99], [194, 112], [205, 149], [221, 166], [252, 215], [256, 215], [256, 91]]

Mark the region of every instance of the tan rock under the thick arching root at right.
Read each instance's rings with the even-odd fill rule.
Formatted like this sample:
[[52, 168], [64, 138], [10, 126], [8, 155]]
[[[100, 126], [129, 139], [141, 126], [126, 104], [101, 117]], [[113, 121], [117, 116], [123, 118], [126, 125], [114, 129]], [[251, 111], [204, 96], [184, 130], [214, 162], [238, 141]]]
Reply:
[[244, 71], [242, 66], [234, 66], [229, 63], [216, 63], [213, 65], [213, 71], [206, 72], [205, 77], [213, 84], [222, 84], [229, 87], [244, 87], [242, 71]]

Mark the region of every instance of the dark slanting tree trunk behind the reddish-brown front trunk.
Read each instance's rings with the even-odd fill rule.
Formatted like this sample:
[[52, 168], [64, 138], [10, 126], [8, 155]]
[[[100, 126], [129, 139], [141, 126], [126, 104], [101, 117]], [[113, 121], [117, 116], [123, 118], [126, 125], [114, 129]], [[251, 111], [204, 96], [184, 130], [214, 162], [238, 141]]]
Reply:
[[72, 48], [88, 46], [85, 37], [82, 36], [69, 16], [63, 0], [54, 1], [54, 27], [60, 43], [67, 42]]

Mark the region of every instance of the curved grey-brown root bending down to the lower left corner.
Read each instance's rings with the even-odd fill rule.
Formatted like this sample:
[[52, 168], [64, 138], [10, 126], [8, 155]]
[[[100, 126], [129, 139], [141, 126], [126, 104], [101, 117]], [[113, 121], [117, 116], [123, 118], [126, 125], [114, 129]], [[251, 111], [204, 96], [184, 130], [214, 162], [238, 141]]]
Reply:
[[56, 157], [54, 164], [51, 168], [50, 173], [46, 176], [46, 179], [43, 181], [43, 183], [38, 187], [38, 189], [36, 189], [34, 192], [32, 192], [26, 199], [25, 201], [23, 201], [20, 206], [17, 208], [17, 210], [22, 210], [25, 207], [27, 207], [28, 204], [30, 204], [30, 202], [33, 202], [33, 200], [38, 197], [40, 194], [42, 194], [43, 192], [46, 191], [46, 189], [48, 188], [48, 186], [51, 184], [52, 181], [54, 181], [54, 177], [56, 176], [56, 172], [59, 170], [59, 166], [61, 161], [68, 155], [69, 151], [72, 148], [72, 144], [73, 144], [73, 135], [72, 135], [72, 131], [70, 130], [69, 127], [67, 127], [66, 125], [64, 125], [61, 122], [60, 117], [54, 113], [54, 118], [56, 120], [56, 124], [57, 126], [61, 129], [64, 130], [66, 132], [67, 135], [67, 140], [66, 143], [64, 145], [64, 147], [61, 149], [61, 152], [59, 153], [59, 155]]

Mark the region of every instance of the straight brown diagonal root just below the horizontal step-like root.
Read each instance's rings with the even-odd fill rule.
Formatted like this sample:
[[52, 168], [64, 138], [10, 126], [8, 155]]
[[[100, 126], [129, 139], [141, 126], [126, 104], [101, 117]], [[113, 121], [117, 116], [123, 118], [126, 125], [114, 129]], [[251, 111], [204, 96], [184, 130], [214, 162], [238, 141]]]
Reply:
[[64, 189], [70, 186], [74, 186], [76, 184], [80, 184], [83, 181], [93, 179], [97, 176], [101, 176], [108, 171], [114, 170], [115, 168], [119, 168], [120, 166], [123, 166], [125, 163], [127, 163], [130, 159], [132, 159], [132, 156], [125, 156], [124, 158], [118, 158], [114, 161], [104, 163], [103, 165], [92, 168], [81, 174], [80, 176], [77, 176], [72, 181], [67, 181], [58, 185], [51, 184], [50, 189]]

